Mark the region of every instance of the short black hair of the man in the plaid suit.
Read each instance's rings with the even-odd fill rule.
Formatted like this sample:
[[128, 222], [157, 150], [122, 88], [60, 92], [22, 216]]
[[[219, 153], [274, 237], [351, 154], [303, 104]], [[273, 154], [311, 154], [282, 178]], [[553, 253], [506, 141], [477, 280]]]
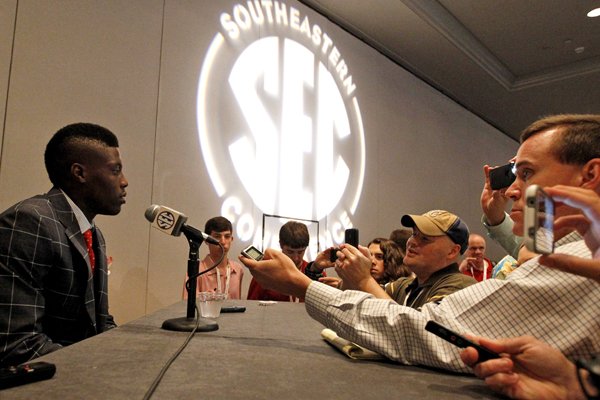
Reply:
[[44, 163], [50, 182], [62, 187], [69, 177], [71, 165], [82, 162], [80, 146], [100, 144], [107, 147], [119, 147], [119, 140], [108, 129], [86, 122], [78, 122], [59, 129], [46, 145]]

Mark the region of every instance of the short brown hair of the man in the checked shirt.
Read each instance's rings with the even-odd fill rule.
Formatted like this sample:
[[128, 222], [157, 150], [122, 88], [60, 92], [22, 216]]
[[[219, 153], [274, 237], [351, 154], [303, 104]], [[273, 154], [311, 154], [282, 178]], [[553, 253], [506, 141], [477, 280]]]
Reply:
[[600, 157], [600, 115], [559, 114], [542, 118], [521, 132], [521, 143], [533, 135], [557, 128], [553, 154], [563, 164], [584, 165]]

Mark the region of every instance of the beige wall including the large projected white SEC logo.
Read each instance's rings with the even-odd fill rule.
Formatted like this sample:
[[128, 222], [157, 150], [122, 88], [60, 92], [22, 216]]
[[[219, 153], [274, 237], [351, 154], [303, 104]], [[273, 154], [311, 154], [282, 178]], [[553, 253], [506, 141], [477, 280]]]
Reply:
[[21, 0], [0, 10], [0, 206], [49, 188], [42, 153], [58, 128], [114, 130], [128, 203], [98, 223], [121, 322], [181, 298], [187, 244], [150, 230], [150, 204], [201, 229], [227, 216], [234, 257], [261, 243], [263, 214], [318, 221], [322, 249], [346, 227], [366, 243], [433, 208], [481, 232], [481, 166], [516, 151], [296, 1]]

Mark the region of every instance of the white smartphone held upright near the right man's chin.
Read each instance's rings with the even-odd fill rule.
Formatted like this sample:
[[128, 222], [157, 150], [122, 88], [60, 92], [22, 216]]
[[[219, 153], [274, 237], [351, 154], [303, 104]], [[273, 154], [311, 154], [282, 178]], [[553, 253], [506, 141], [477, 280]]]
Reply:
[[525, 247], [537, 254], [554, 252], [554, 201], [538, 185], [525, 191], [523, 214]]

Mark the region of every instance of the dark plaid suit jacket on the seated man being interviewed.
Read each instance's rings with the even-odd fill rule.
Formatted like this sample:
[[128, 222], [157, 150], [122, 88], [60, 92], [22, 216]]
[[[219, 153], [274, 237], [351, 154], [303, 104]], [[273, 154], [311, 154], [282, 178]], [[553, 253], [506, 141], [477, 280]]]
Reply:
[[115, 326], [108, 313], [106, 245], [99, 229], [95, 253], [92, 279], [83, 234], [57, 188], [0, 214], [0, 366]]

